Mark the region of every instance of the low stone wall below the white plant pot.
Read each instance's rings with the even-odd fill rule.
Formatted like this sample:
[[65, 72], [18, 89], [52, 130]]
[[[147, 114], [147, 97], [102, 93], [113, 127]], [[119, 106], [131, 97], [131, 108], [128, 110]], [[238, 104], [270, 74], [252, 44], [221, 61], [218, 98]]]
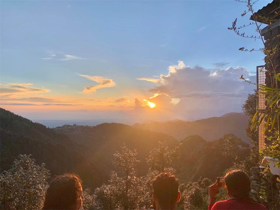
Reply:
[[[250, 197], [255, 201], [262, 203], [268, 209], [280, 209], [280, 182], [277, 181], [277, 175], [268, 174], [264, 176], [259, 167], [253, 167], [250, 170], [251, 192]], [[266, 187], [265, 194], [267, 202], [260, 198], [261, 186]]]

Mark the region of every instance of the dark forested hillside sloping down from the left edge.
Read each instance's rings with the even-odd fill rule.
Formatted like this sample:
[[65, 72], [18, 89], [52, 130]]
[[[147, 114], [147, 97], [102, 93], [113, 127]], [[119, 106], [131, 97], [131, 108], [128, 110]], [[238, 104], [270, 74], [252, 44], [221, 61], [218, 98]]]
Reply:
[[31, 154], [37, 164], [45, 163], [52, 175], [77, 173], [91, 187], [106, 182], [110, 172], [89, 149], [67, 135], [4, 109], [0, 109], [0, 153], [1, 172], [8, 170], [19, 154]]

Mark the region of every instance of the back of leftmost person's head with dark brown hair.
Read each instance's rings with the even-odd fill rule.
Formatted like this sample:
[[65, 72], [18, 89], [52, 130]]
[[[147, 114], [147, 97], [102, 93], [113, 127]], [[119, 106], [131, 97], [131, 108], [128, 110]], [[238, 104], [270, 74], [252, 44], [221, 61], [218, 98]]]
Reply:
[[82, 180], [75, 174], [54, 177], [49, 183], [43, 209], [72, 209], [82, 206]]

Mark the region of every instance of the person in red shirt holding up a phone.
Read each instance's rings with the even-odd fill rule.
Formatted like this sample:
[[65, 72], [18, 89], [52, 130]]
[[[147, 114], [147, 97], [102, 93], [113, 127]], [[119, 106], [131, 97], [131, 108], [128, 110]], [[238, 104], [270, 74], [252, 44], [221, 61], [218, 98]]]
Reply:
[[231, 170], [224, 177], [224, 187], [231, 199], [218, 201], [215, 203], [218, 181], [208, 187], [209, 199], [208, 210], [264, 210], [264, 205], [254, 201], [249, 197], [251, 190], [250, 178], [241, 170]]

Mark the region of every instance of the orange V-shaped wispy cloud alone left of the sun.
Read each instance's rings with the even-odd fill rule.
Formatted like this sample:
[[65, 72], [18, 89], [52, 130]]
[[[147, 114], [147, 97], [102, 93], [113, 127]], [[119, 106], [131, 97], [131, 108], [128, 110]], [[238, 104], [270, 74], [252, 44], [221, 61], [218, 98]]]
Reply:
[[92, 92], [96, 92], [96, 90], [100, 88], [116, 86], [116, 83], [112, 79], [107, 79], [105, 77], [100, 77], [100, 76], [89, 76], [89, 75], [82, 75], [82, 74], [78, 74], [78, 75], [99, 83], [98, 85], [84, 87], [83, 90], [84, 93], [92, 93]]

